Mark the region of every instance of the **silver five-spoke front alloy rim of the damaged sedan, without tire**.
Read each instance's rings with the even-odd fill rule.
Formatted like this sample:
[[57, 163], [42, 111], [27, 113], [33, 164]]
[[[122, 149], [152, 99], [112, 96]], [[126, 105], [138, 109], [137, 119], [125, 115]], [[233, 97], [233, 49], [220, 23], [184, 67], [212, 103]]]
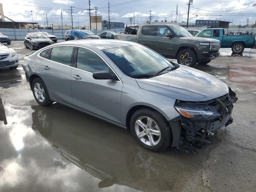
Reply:
[[139, 117], [135, 122], [135, 132], [138, 138], [148, 146], [156, 146], [161, 140], [161, 132], [154, 120], [149, 117]]

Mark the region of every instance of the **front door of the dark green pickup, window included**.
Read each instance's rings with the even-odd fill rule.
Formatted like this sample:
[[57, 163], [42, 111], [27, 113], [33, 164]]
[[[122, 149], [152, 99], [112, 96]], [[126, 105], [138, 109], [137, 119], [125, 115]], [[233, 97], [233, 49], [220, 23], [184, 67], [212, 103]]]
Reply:
[[174, 55], [176, 37], [166, 37], [167, 33], [171, 33], [167, 26], [157, 26], [156, 36], [154, 37], [154, 50], [163, 55]]

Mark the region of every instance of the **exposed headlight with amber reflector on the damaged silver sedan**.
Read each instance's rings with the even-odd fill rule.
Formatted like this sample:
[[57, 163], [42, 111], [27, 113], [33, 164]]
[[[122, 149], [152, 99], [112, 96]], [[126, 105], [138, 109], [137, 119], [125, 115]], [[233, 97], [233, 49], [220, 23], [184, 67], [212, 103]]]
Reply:
[[195, 120], [213, 120], [221, 116], [214, 106], [178, 104], [174, 105], [174, 107], [182, 116]]

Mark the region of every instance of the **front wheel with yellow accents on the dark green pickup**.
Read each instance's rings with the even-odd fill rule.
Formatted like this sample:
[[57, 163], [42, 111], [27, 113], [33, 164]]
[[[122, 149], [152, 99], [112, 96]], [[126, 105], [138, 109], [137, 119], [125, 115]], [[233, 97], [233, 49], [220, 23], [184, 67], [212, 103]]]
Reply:
[[178, 64], [194, 67], [197, 63], [196, 53], [190, 49], [184, 49], [177, 56]]

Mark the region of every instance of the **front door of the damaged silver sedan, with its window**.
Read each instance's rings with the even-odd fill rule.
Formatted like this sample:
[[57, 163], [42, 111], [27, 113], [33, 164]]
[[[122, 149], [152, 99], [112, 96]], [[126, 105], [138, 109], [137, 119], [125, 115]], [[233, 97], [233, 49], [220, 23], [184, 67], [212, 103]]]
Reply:
[[72, 69], [71, 74], [73, 105], [119, 123], [123, 84], [120, 81], [96, 80], [92, 77], [93, 72], [102, 70], [112, 72], [106, 62], [94, 51], [78, 48], [76, 68]]

